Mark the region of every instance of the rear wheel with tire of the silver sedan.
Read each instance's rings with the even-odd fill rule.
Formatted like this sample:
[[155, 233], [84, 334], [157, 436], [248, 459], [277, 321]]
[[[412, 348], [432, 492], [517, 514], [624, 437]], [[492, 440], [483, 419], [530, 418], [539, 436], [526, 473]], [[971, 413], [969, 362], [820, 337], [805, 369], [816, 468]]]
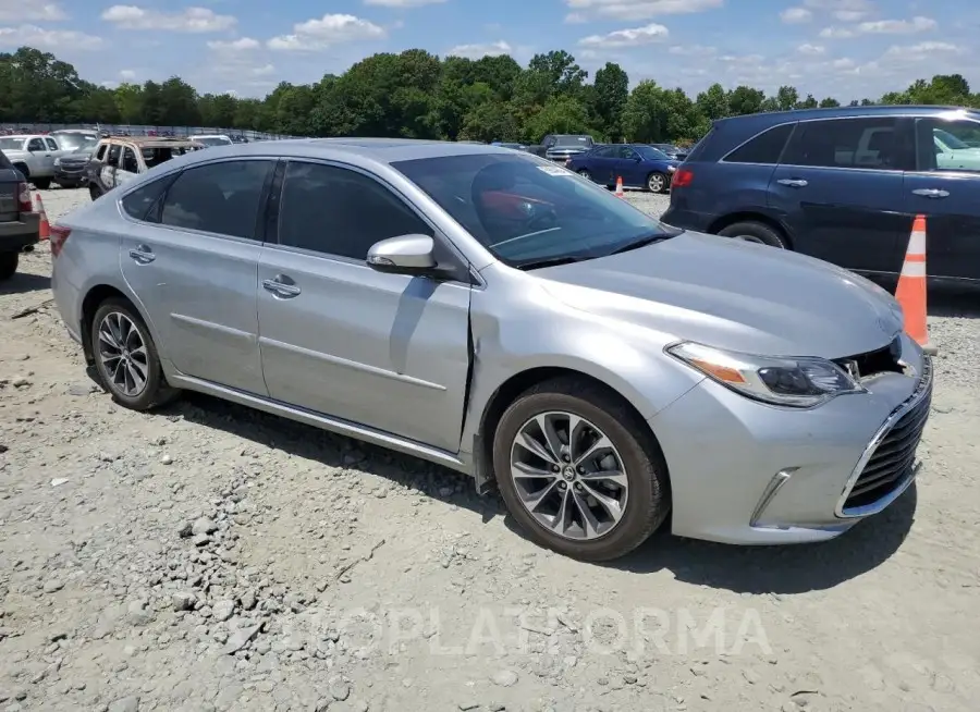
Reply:
[[146, 322], [126, 299], [111, 298], [99, 306], [91, 320], [90, 339], [99, 379], [120, 405], [149, 410], [179, 394], [163, 377]]

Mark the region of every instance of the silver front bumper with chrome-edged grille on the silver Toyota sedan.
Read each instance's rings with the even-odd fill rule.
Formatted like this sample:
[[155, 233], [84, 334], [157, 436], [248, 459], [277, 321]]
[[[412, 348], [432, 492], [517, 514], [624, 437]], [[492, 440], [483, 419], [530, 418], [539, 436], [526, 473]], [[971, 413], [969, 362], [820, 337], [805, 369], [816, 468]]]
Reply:
[[808, 410], [750, 401], [711, 380], [650, 420], [671, 474], [673, 532], [736, 544], [823, 541], [894, 502], [915, 479], [932, 397], [907, 335], [908, 375]]

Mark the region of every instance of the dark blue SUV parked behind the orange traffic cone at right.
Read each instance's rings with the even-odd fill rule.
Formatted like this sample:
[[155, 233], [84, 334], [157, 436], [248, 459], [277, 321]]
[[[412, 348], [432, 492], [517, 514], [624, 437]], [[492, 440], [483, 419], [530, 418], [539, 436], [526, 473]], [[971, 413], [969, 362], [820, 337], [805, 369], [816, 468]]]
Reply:
[[980, 111], [848, 107], [715, 121], [671, 185], [672, 225], [901, 271], [927, 217], [930, 277], [980, 280]]

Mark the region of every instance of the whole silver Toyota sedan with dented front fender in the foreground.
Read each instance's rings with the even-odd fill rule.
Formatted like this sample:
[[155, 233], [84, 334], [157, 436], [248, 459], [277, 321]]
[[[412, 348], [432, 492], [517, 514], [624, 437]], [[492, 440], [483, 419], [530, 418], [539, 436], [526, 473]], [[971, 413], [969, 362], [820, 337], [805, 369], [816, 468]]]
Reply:
[[537, 542], [830, 539], [917, 472], [930, 360], [884, 291], [670, 228], [530, 154], [303, 139], [174, 158], [52, 228], [106, 390], [454, 468]]

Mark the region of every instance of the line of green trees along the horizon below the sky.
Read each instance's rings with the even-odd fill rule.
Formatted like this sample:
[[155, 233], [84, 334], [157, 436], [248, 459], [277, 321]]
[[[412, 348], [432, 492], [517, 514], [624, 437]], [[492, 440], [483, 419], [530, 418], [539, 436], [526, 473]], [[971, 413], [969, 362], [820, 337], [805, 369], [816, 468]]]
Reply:
[[[959, 74], [919, 79], [868, 105], [980, 107]], [[750, 86], [714, 84], [694, 98], [644, 81], [629, 89], [608, 62], [593, 77], [564, 50], [512, 57], [439, 58], [421, 49], [365, 58], [316, 84], [280, 83], [264, 99], [198, 94], [177, 76], [106, 88], [78, 76], [50, 52], [22, 47], [0, 53], [0, 122], [221, 126], [296, 136], [388, 136], [537, 143], [550, 133], [599, 140], [686, 144], [712, 120], [814, 107], [837, 100], [783, 86], [771, 96]]]

